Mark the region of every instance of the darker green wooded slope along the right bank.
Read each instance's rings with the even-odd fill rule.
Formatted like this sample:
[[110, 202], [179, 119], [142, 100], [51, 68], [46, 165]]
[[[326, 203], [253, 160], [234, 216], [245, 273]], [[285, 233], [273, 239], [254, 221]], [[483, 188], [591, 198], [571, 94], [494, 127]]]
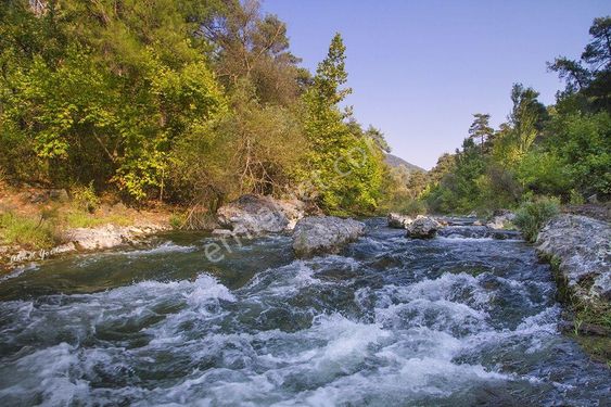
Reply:
[[[460, 150], [440, 157], [415, 190], [429, 211], [469, 213], [553, 198], [581, 204], [611, 194], [611, 17], [596, 18], [578, 61], [548, 68], [567, 82], [556, 104], [513, 85], [512, 109], [498, 129], [476, 113]], [[419, 189], [418, 189], [419, 188]]]

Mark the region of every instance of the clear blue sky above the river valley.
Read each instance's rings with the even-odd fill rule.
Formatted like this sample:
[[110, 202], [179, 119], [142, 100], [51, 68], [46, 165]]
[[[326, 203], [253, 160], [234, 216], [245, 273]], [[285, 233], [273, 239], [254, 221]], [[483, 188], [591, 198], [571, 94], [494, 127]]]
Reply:
[[393, 153], [427, 169], [467, 136], [472, 113], [506, 119], [515, 81], [552, 103], [562, 84], [546, 62], [578, 58], [609, 0], [264, 0], [315, 71], [344, 37], [356, 118], [382, 129]]

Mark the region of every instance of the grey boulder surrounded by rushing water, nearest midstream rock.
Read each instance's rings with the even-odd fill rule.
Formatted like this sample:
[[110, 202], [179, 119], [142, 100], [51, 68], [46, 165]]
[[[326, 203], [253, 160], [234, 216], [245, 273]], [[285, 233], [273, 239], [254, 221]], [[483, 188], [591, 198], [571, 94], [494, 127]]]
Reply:
[[335, 216], [308, 216], [293, 231], [293, 250], [297, 256], [338, 253], [348, 242], [365, 233], [365, 224]]

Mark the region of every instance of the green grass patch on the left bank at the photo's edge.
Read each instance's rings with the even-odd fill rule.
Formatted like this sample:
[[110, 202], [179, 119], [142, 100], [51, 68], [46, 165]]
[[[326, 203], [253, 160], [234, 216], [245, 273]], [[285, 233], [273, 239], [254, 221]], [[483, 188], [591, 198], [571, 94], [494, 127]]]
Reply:
[[2, 243], [27, 249], [50, 249], [59, 239], [54, 225], [42, 217], [29, 218], [7, 212], [0, 215]]

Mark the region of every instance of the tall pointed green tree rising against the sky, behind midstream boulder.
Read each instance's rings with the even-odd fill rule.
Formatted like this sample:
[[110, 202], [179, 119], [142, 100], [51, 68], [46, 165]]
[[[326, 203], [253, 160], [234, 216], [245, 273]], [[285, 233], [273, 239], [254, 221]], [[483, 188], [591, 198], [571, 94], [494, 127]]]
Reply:
[[347, 114], [338, 104], [351, 92], [341, 88], [347, 80], [344, 52], [336, 34], [304, 94], [304, 128], [311, 150], [302, 179], [311, 182], [318, 202], [330, 212], [365, 213], [377, 206], [382, 156], [362, 137], [360, 126], [343, 122]]

